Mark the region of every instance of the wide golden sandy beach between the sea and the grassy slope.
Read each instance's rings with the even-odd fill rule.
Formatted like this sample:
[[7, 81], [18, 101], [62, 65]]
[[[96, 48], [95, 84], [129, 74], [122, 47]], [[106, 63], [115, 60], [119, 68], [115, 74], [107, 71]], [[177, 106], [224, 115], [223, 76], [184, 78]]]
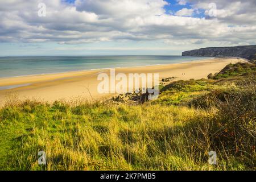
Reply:
[[[176, 80], [189, 80], [191, 78], [207, 78], [209, 73], [219, 72], [229, 63], [244, 61], [237, 58], [215, 58], [200, 61], [190, 61], [179, 64], [164, 64], [147, 67], [117, 68], [115, 73], [159, 73], [159, 78], [176, 77]], [[26, 86], [0, 90], [0, 106], [9, 97], [16, 96], [20, 100], [36, 99], [42, 101], [75, 100], [76, 98], [102, 100], [113, 94], [100, 94], [97, 92], [99, 73], [110, 73], [109, 69], [93, 71], [77, 71], [68, 73], [55, 73], [48, 75], [22, 76], [0, 78], [1, 86], [23, 85]]]

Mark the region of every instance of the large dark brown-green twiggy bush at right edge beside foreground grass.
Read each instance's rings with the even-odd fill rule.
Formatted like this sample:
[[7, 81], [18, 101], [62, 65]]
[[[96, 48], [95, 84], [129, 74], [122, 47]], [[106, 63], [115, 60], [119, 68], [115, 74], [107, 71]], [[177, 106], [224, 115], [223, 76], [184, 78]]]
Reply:
[[[211, 147], [226, 154], [242, 156], [250, 166], [255, 160], [256, 91], [254, 84], [237, 90], [214, 90], [193, 100], [190, 106], [216, 107], [217, 113], [207, 128]], [[201, 123], [205, 125], [205, 123]]]

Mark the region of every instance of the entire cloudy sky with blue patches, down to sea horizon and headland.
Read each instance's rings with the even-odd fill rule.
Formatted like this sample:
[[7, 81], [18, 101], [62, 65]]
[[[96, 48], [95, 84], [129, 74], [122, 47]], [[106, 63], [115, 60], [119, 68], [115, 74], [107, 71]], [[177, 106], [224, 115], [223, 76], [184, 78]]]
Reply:
[[0, 56], [180, 55], [256, 44], [255, 10], [256, 0], [1, 0]]

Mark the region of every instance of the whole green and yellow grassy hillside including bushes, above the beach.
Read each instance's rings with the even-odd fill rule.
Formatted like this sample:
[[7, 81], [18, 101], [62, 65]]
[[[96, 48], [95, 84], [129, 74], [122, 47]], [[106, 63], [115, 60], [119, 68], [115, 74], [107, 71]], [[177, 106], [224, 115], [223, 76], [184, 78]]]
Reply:
[[[132, 94], [52, 105], [10, 98], [0, 110], [0, 169], [255, 169], [255, 64], [237, 66], [162, 86], [158, 100], [143, 104]], [[41, 150], [46, 166], [37, 162]]]

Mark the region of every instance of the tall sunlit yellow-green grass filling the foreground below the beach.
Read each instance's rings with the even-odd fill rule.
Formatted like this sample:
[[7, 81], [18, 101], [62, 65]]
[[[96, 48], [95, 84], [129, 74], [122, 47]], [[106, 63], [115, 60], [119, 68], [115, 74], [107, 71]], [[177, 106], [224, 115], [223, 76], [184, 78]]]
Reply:
[[[1, 137], [11, 132], [15, 137], [1, 166], [14, 170], [253, 169], [255, 155], [248, 148], [255, 142], [252, 133], [242, 133], [247, 128], [237, 123], [246, 143], [226, 136], [236, 128], [224, 127], [233, 118], [222, 114], [225, 104], [220, 106], [223, 109], [204, 110], [102, 102], [72, 107], [35, 101], [7, 106], [1, 110]], [[254, 123], [247, 127], [255, 132]], [[230, 142], [246, 146], [240, 149], [249, 154], [233, 151], [235, 143]], [[47, 154], [46, 166], [38, 165], [41, 150]], [[211, 150], [217, 151], [217, 166], [208, 164]]]

